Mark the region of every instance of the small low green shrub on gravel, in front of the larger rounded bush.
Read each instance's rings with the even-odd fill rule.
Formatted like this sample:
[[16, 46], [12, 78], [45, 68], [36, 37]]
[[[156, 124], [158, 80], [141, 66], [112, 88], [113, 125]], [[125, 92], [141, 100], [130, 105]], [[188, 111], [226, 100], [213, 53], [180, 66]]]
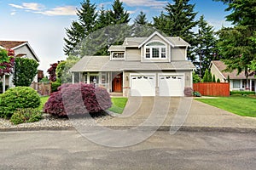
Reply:
[[18, 109], [10, 118], [10, 122], [20, 124], [23, 122], [38, 122], [42, 119], [42, 113], [38, 109]]

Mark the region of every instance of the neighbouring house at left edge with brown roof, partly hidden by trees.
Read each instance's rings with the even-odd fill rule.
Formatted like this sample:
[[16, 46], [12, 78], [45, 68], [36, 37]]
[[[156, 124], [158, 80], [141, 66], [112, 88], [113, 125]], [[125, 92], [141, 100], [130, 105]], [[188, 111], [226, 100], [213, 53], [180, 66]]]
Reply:
[[[35, 54], [34, 50], [30, 46], [28, 42], [23, 41], [0, 41], [0, 48], [4, 49], [13, 49], [15, 51], [15, 57], [24, 57], [27, 59], [35, 59], [39, 62], [37, 54]], [[9, 88], [14, 87], [12, 82], [13, 75], [6, 75], [5, 80], [1, 82], [5, 82]], [[34, 82], [38, 82], [38, 76], [35, 77]]]

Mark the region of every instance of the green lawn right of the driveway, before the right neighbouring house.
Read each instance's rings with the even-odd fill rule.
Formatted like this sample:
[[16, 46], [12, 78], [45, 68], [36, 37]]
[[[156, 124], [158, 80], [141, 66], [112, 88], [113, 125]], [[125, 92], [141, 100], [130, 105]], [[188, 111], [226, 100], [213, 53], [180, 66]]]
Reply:
[[213, 105], [224, 111], [230, 111], [240, 116], [256, 117], [256, 98], [249, 96], [230, 96], [226, 98], [196, 99], [208, 105]]

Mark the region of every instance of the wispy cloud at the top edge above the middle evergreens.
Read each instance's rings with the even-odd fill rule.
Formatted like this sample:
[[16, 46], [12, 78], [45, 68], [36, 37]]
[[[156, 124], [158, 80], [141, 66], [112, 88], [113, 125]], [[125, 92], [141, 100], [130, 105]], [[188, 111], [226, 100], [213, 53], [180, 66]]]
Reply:
[[166, 6], [167, 1], [159, 1], [159, 0], [121, 0], [123, 3], [127, 4], [130, 7], [153, 7], [160, 8]]

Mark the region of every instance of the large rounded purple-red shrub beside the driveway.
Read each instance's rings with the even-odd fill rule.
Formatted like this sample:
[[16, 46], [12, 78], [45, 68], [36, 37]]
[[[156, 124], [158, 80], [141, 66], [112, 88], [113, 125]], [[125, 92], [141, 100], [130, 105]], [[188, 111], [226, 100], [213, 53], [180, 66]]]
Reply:
[[105, 88], [94, 88], [83, 82], [62, 84], [58, 91], [50, 94], [44, 112], [55, 116], [93, 114], [105, 111], [112, 105]]

